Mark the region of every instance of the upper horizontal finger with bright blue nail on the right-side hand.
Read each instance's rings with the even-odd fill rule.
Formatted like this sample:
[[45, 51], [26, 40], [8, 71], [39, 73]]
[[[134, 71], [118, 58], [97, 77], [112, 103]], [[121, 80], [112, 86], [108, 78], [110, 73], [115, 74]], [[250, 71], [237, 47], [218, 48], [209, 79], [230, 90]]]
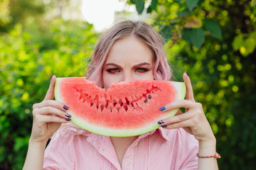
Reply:
[[176, 108], [196, 108], [198, 107], [198, 103], [193, 102], [193, 101], [188, 101], [188, 100], [178, 100], [178, 101], [174, 101], [171, 102], [169, 104], [167, 104], [166, 106], [164, 106], [164, 110], [161, 111], [170, 111]]

